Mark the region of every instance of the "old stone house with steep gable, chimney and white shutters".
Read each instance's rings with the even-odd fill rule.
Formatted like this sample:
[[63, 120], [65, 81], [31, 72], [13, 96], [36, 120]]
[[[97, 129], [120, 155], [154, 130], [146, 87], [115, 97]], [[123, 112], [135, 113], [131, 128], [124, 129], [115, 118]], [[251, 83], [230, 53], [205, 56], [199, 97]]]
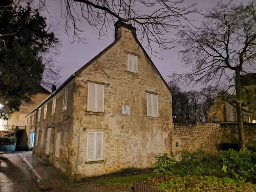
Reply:
[[152, 167], [171, 150], [172, 94], [136, 28], [119, 21], [115, 41], [27, 117], [33, 152], [70, 175]]

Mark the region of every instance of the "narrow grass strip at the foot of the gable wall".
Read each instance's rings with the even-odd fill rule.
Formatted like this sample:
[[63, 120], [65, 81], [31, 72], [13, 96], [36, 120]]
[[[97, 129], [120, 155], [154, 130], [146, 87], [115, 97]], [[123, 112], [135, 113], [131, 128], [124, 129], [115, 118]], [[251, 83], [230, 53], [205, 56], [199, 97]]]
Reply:
[[132, 187], [134, 184], [134, 181], [146, 181], [149, 178], [154, 177], [156, 174], [150, 173], [150, 174], [141, 174], [141, 175], [134, 175], [134, 176], [126, 176], [126, 177], [117, 177], [117, 178], [111, 178], [111, 179], [98, 179], [97, 183], [102, 183], [106, 185], [112, 185], [112, 186], [122, 186], [127, 185], [129, 187]]

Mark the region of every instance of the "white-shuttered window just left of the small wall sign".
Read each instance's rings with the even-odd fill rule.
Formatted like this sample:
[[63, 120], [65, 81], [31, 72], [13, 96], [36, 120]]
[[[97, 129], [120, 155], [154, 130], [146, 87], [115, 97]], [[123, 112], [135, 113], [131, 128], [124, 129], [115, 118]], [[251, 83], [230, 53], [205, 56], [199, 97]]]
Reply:
[[104, 112], [104, 86], [88, 83], [87, 111]]

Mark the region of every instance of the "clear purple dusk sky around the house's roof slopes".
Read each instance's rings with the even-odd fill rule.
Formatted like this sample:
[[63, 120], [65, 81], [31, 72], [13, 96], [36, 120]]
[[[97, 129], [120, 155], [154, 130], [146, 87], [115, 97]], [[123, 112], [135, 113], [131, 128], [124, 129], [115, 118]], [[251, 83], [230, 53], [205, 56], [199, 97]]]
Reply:
[[[216, 0], [184, 0], [184, 6], [190, 6], [193, 3], [197, 3], [197, 8], [202, 9], [204, 12], [206, 9], [214, 7], [217, 5]], [[227, 2], [227, 1], [224, 1]], [[243, 3], [247, 3], [249, 0], [243, 0]], [[108, 47], [114, 41], [114, 31], [109, 30], [109, 36], [103, 36], [101, 40], [98, 40], [99, 30], [91, 27], [86, 20], [83, 20], [80, 24], [81, 29], [84, 30], [84, 36], [86, 37], [86, 44], [74, 42], [73, 33], [69, 32], [69, 35], [65, 33], [65, 19], [61, 18], [61, 0], [58, 1], [47, 1], [49, 6], [49, 14], [45, 13], [48, 20], [54, 24], [59, 23], [58, 37], [62, 41], [62, 47], [60, 48], [60, 57], [58, 59], [58, 64], [62, 67], [60, 83], [65, 81], [70, 75], [74, 74], [79, 68], [85, 65], [93, 57], [95, 57], [99, 52]], [[233, 3], [239, 4], [240, 0], [234, 0]], [[188, 17], [189, 19], [195, 20], [195, 25], [200, 25], [202, 16], [199, 14], [193, 14]], [[114, 26], [114, 23], [113, 23]], [[176, 31], [174, 31], [176, 33]], [[142, 42], [145, 48], [145, 44]], [[161, 56], [162, 60], [157, 58], [152, 58], [157, 69], [168, 81], [167, 76], [171, 75], [173, 72], [183, 73], [186, 69], [182, 67], [182, 62], [178, 55], [179, 48], [173, 48], [171, 50], [163, 51]], [[59, 84], [58, 84], [59, 86]]]

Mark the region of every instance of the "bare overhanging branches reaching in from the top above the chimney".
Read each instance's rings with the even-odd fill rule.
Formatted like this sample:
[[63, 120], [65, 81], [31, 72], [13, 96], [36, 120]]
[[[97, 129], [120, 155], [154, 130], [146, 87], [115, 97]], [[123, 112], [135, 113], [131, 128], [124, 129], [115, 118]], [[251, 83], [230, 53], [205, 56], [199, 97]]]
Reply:
[[[130, 23], [137, 28], [137, 34], [141, 41], [145, 40], [152, 56], [158, 57], [162, 50], [173, 46], [172, 38], [166, 34], [172, 29], [184, 27], [189, 22], [187, 15], [196, 13], [196, 4], [183, 7], [184, 0], [61, 0], [61, 16], [66, 19], [66, 32], [72, 31], [73, 42], [82, 41], [85, 38], [80, 23], [85, 20], [92, 27], [99, 29], [99, 38], [108, 35], [113, 23], [121, 20]], [[47, 7], [45, 0], [40, 0]], [[159, 50], [153, 49], [157, 45]], [[159, 57], [158, 57], [159, 58]]]

